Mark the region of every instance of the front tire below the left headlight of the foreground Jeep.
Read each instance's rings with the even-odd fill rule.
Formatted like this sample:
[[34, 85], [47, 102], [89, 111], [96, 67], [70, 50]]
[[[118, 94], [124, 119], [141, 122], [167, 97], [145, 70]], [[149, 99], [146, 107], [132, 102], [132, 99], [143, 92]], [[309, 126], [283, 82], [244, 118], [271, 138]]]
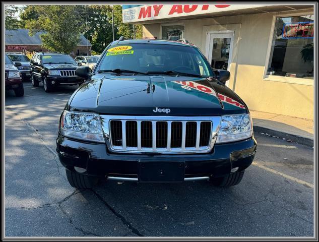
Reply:
[[68, 169], [66, 169], [66, 173], [70, 185], [77, 189], [91, 189], [98, 182], [98, 178], [94, 176], [80, 174]]

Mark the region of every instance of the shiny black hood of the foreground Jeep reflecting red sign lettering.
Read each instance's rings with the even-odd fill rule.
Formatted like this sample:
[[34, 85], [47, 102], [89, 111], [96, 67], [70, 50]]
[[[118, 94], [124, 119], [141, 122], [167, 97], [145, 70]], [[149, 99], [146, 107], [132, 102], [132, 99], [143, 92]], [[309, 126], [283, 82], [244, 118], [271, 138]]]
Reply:
[[[169, 108], [170, 113], [154, 112]], [[246, 113], [228, 87], [207, 78], [94, 75], [70, 98], [67, 109], [118, 115], [222, 115]]]

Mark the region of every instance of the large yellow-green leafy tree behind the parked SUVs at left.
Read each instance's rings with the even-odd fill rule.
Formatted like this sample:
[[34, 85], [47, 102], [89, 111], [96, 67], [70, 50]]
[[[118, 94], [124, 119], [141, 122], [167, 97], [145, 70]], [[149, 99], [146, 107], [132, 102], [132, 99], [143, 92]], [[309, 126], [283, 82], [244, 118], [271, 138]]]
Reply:
[[52, 51], [70, 53], [80, 42], [82, 21], [77, 16], [75, 5], [34, 6], [38, 19], [26, 20], [29, 35], [40, 34], [42, 46]]

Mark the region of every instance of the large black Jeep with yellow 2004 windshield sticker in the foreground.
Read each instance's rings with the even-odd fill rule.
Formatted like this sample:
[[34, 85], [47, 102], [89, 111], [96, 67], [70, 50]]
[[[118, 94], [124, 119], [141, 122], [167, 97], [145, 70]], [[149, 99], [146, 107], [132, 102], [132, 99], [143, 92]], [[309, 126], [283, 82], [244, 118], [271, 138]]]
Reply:
[[71, 186], [99, 178], [237, 185], [257, 143], [246, 104], [187, 41], [112, 42], [61, 114], [56, 139]]

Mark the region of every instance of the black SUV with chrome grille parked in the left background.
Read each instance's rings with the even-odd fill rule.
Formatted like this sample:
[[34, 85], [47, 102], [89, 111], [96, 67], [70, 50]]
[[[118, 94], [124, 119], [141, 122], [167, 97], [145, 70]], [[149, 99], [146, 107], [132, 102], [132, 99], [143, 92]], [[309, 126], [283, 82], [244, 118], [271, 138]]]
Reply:
[[35, 53], [30, 62], [31, 82], [35, 87], [43, 82], [45, 92], [51, 92], [58, 85], [78, 85], [84, 79], [75, 73], [78, 67], [68, 54]]

